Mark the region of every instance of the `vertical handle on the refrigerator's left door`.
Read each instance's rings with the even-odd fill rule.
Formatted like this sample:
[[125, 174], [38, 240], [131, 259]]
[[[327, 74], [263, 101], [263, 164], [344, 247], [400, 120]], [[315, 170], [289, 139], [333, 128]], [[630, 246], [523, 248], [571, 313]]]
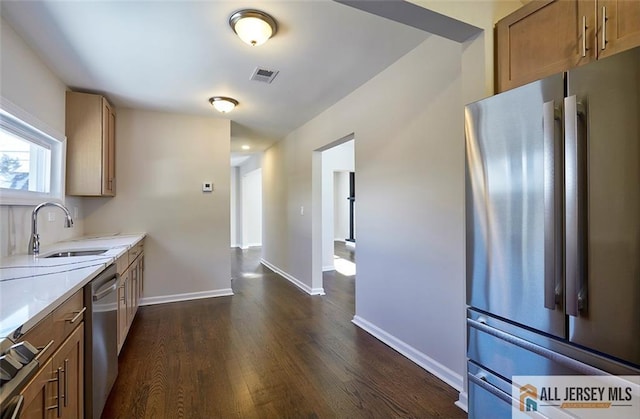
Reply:
[[543, 117], [544, 154], [544, 306], [562, 306], [562, 149], [556, 129], [562, 132], [561, 110], [554, 101], [545, 102]]

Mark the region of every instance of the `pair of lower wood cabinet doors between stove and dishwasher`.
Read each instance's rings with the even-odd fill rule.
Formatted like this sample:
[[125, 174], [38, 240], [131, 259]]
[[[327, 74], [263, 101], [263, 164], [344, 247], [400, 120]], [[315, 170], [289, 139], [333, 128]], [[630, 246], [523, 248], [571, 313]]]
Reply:
[[81, 418], [84, 412], [84, 322], [49, 358], [21, 394], [20, 418]]

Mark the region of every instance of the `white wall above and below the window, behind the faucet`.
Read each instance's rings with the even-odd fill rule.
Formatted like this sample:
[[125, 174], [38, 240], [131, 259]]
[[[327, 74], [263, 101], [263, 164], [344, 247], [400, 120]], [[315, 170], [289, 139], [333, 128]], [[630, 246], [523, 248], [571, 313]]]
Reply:
[[[0, 31], [0, 96], [64, 134], [67, 87], [4, 19]], [[46, 221], [43, 210], [38, 220], [41, 245], [83, 234], [82, 200], [66, 197], [65, 205], [72, 212], [78, 208], [73, 228], [64, 228], [62, 213], [56, 213], [56, 221]], [[32, 210], [33, 206], [0, 206], [0, 256], [27, 252]]]

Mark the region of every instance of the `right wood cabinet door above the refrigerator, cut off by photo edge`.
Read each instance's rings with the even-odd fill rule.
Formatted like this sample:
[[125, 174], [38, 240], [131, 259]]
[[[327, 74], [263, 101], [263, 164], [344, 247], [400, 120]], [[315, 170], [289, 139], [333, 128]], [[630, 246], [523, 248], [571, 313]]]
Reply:
[[640, 46], [640, 1], [598, 0], [598, 57]]

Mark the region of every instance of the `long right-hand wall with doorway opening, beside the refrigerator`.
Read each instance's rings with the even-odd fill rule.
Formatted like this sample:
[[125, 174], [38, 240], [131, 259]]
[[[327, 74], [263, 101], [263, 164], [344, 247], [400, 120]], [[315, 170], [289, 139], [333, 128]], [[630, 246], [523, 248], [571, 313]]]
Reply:
[[355, 318], [458, 390], [466, 368], [462, 54], [458, 43], [427, 38], [267, 150], [263, 169], [264, 258], [313, 288], [321, 269], [312, 263], [314, 151], [355, 134]]

